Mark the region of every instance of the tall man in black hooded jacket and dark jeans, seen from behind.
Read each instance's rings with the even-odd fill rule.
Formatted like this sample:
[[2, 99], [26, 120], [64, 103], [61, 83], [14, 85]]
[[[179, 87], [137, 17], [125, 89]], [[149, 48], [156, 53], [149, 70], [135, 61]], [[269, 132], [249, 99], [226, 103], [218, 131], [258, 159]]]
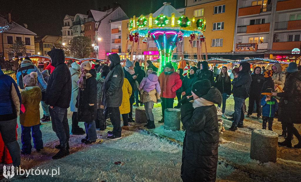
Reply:
[[67, 119], [67, 108], [71, 100], [71, 74], [65, 64], [64, 51], [52, 49], [48, 52], [51, 65], [55, 69], [50, 74], [46, 88], [46, 101], [49, 105], [52, 129], [60, 140], [56, 146], [60, 151], [52, 159], [60, 159], [69, 155], [69, 125]]

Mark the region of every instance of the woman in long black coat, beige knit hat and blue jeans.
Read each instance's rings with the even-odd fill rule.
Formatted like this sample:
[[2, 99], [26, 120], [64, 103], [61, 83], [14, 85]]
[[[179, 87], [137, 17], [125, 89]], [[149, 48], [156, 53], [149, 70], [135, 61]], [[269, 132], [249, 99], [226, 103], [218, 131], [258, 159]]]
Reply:
[[96, 70], [91, 69], [89, 61], [82, 62], [81, 75], [78, 81], [78, 95], [76, 98], [77, 120], [85, 122], [86, 137], [82, 143], [92, 144], [96, 142], [96, 112], [97, 112], [97, 85]]

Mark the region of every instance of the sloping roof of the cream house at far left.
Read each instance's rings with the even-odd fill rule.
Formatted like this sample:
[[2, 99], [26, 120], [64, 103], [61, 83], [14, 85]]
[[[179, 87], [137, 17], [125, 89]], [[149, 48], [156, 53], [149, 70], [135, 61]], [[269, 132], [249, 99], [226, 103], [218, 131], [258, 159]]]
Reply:
[[14, 21], [11, 21], [11, 24], [9, 24], [8, 20], [4, 16], [0, 15], [0, 26], [6, 26], [6, 25], [9, 26], [9, 30], [5, 31], [4, 33], [36, 35], [35, 33], [15, 23]]

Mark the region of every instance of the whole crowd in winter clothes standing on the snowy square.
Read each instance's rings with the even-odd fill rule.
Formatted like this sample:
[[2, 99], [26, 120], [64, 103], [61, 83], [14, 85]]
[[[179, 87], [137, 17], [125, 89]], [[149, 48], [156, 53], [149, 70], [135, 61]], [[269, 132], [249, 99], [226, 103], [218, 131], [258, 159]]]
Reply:
[[[51, 121], [59, 139], [59, 144], [55, 145], [59, 151], [52, 159], [69, 155], [69, 107], [73, 112], [71, 134], [85, 135], [81, 142], [93, 144], [98, 138], [96, 129], [104, 131], [109, 118], [113, 131], [107, 132], [107, 138], [121, 139], [121, 131], [129, 130], [129, 123], [135, 122], [133, 106], [144, 106], [147, 117], [144, 127], [156, 128], [154, 103], [161, 102], [162, 119], [159, 123], [164, 123], [164, 111], [173, 108], [175, 97], [178, 99], [175, 108], [181, 109], [185, 129], [181, 168], [183, 181], [200, 178], [215, 181], [219, 143], [215, 104], [222, 106], [221, 117], [227, 119], [226, 100], [231, 94], [234, 97], [234, 113], [228, 118], [233, 121], [230, 131], [244, 128], [245, 100], [249, 98], [246, 117], [256, 113], [256, 119], [262, 118], [262, 129], [266, 129], [268, 123], [268, 130], [272, 130], [274, 117], [278, 117], [283, 129], [280, 136], [285, 138], [278, 144], [292, 147], [291, 140], [295, 135], [299, 143], [294, 147], [301, 148], [301, 136], [293, 126], [301, 123], [301, 71], [294, 62], [289, 64], [286, 73], [279, 63], [274, 64], [272, 70], [255, 67], [252, 72], [252, 65], [242, 62], [231, 70], [233, 79], [226, 66], [218, 68], [215, 65], [211, 71], [208, 62], [202, 61], [188, 70], [185, 68], [187, 72], [184, 76], [183, 68], [175, 71], [172, 63], [167, 62], [158, 77], [158, 68], [151, 61], [146, 62], [145, 71], [139, 62], [134, 64], [130, 60], [121, 66], [116, 53], [108, 56], [109, 65], [89, 61], [65, 62], [64, 51], [55, 48], [48, 55], [51, 63], [45, 70], [42, 64], [38, 67], [34, 65], [29, 57], [20, 62], [17, 83], [0, 71], [0, 132], [14, 166], [20, 165], [20, 153], [31, 153], [31, 138], [37, 152], [43, 149], [40, 122]], [[40, 103], [42, 118], [39, 114]], [[16, 140], [19, 115], [21, 150]], [[84, 122], [85, 129], [79, 127], [79, 122]]]

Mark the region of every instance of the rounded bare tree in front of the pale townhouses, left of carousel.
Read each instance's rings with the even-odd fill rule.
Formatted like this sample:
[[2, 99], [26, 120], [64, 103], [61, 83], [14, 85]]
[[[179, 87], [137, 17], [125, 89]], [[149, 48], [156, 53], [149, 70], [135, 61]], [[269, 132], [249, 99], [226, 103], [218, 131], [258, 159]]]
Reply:
[[76, 58], [87, 58], [94, 51], [91, 39], [83, 36], [74, 37], [70, 41], [69, 48]]

